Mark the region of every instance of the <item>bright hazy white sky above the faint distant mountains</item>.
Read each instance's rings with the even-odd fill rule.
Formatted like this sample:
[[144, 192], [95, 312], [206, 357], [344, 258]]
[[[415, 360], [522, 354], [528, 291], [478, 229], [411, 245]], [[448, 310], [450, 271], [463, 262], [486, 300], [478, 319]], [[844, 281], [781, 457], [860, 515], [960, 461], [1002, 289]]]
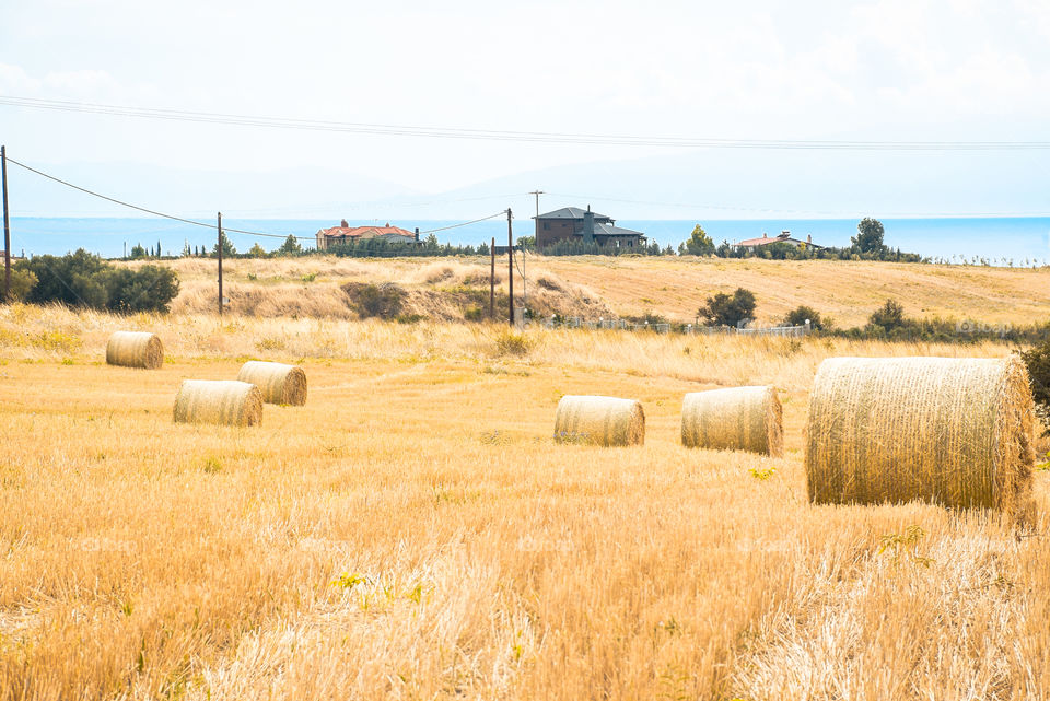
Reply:
[[[1048, 89], [1046, 0], [5, 0], [0, 10], [0, 95], [265, 117], [740, 139], [1050, 140]], [[0, 140], [52, 166], [325, 166], [423, 192], [678, 153], [11, 106], [0, 106]], [[1046, 183], [1048, 159], [1026, 154], [1019, 167]]]

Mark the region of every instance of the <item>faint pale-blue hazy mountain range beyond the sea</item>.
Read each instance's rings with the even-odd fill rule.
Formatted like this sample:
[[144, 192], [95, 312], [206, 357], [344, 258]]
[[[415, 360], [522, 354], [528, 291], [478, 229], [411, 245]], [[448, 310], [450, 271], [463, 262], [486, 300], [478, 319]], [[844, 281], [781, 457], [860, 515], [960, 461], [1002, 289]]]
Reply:
[[[513, 207], [585, 207], [615, 219], [770, 219], [1012, 215], [1050, 212], [1041, 152], [852, 152], [705, 150], [592, 162], [420, 192], [347, 167], [271, 173], [143, 164], [35, 164], [57, 177], [179, 215], [317, 218], [338, 222], [455, 220]], [[11, 211], [22, 217], [139, 215], [18, 166], [8, 171]]]

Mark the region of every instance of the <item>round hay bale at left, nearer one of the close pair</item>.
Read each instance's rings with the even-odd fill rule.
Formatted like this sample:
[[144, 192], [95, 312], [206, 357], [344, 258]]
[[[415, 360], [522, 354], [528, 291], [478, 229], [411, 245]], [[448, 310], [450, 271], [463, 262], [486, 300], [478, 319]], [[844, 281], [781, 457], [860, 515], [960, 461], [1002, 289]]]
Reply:
[[262, 422], [262, 393], [236, 379], [184, 379], [175, 396], [176, 423], [258, 425]]

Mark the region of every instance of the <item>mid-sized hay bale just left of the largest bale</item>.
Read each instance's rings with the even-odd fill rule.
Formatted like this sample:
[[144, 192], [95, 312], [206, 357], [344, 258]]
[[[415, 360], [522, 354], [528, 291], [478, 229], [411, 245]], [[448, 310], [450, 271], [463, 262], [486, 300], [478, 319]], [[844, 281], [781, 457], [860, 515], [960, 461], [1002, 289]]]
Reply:
[[681, 401], [681, 444], [716, 451], [784, 454], [775, 387], [693, 392]]

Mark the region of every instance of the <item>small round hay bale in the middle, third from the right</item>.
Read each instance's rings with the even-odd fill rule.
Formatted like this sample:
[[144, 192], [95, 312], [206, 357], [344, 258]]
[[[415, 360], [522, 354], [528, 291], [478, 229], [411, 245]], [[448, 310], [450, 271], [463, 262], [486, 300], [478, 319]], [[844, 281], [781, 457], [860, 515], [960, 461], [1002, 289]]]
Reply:
[[555, 441], [641, 445], [645, 441], [645, 412], [633, 399], [565, 395], [555, 414]]

